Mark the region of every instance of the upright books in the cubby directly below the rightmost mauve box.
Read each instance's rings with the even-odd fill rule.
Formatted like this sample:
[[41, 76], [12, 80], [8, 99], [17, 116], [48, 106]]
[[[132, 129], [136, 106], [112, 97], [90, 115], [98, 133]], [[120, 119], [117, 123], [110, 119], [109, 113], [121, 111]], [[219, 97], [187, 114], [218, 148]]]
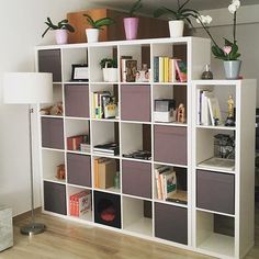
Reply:
[[177, 174], [176, 171], [167, 166], [155, 169], [155, 178], [157, 185], [157, 199], [166, 201], [172, 198], [177, 192]]

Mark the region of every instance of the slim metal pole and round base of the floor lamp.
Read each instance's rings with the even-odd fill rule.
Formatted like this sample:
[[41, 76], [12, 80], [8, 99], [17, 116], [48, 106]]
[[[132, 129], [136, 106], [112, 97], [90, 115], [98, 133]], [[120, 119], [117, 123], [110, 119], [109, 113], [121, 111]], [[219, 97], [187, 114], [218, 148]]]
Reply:
[[21, 227], [21, 234], [23, 235], [36, 235], [43, 233], [46, 226], [42, 223], [35, 223], [34, 221], [34, 192], [33, 192], [33, 160], [32, 160], [32, 113], [33, 108], [29, 104], [29, 139], [30, 139], [30, 171], [31, 171], [31, 209], [32, 209], [32, 217], [31, 223]]

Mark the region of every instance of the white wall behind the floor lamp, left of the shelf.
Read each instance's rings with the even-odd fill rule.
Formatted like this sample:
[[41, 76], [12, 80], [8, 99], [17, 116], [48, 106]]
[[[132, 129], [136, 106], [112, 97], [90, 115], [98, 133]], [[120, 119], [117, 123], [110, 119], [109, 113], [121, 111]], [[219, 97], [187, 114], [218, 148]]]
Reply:
[[[12, 206], [13, 215], [31, 207], [29, 124], [24, 105], [2, 103], [2, 75], [4, 71], [34, 71], [34, 46], [54, 43], [52, 33], [41, 37], [47, 16], [57, 22], [66, 18], [67, 12], [87, 8], [90, 5], [86, 0], [11, 0], [4, 4], [1, 1], [0, 204]], [[37, 161], [37, 157], [35, 159]], [[37, 164], [35, 166], [35, 204], [38, 206], [40, 181]]]

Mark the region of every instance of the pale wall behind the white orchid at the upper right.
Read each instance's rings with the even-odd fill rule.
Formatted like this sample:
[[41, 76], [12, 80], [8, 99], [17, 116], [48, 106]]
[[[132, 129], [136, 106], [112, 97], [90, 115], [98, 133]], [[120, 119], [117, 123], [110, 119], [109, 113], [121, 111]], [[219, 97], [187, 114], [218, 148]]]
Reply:
[[[243, 60], [240, 74], [244, 78], [256, 78], [259, 82], [259, 4], [241, 7], [237, 12], [237, 44]], [[227, 9], [203, 11], [213, 18], [210, 32], [216, 42], [223, 46], [226, 37], [233, 37], [233, 15]], [[207, 37], [203, 29], [198, 29], [195, 36]], [[224, 78], [223, 61], [212, 57], [214, 78]], [[259, 90], [257, 88], [257, 106], [259, 106]]]

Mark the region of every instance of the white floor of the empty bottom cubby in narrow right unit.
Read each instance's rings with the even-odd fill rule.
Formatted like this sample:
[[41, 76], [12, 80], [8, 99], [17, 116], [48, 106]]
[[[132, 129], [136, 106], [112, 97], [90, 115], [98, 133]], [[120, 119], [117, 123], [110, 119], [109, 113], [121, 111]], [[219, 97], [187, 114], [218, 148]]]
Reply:
[[235, 240], [234, 237], [225, 236], [221, 234], [212, 234], [207, 237], [198, 249], [203, 252], [214, 252], [216, 257], [224, 258], [225, 256], [234, 257]]

